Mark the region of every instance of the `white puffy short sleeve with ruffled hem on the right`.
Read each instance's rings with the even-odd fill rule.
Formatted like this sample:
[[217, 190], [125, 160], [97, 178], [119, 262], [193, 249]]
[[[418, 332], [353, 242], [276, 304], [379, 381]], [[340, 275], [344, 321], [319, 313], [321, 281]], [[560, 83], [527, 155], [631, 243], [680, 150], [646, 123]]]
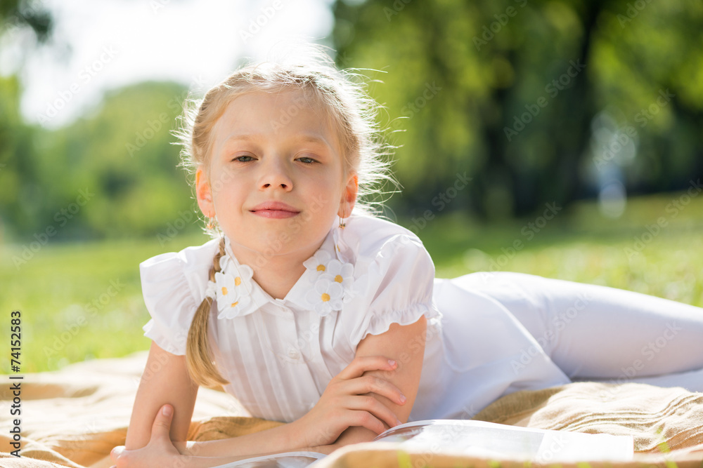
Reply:
[[368, 334], [385, 333], [392, 323], [408, 325], [423, 314], [427, 319], [439, 316], [432, 302], [434, 263], [412, 234], [386, 239], [359, 280], [355, 293], [361, 300], [354, 300], [352, 310], [347, 310], [353, 322], [347, 323], [352, 349]]

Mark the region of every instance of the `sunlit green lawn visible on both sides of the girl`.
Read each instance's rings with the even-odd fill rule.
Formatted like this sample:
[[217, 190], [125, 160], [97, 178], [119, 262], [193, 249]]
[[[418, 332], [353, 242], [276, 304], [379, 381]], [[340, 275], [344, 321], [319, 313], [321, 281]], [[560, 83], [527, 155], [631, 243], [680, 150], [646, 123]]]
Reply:
[[[525, 272], [703, 306], [703, 196], [675, 208], [672, 203], [681, 195], [631, 199], [619, 220], [602, 217], [594, 203], [579, 203], [546, 220], [531, 239], [525, 234], [537, 216], [484, 226], [451, 213], [427, 222], [419, 235], [439, 277]], [[647, 225], [659, 218], [666, 227], [650, 239]], [[638, 239], [644, 241], [641, 246]], [[10, 370], [10, 312], [15, 309], [22, 312], [22, 373], [148, 349], [150, 340], [141, 330], [149, 316], [141, 298], [139, 262], [205, 241], [202, 234], [181, 234], [166, 246], [155, 238], [50, 241], [19, 269], [13, 257], [22, 246], [3, 246], [0, 314], [6, 318], [0, 320], [0, 344], [7, 347], [7, 357], [0, 370]]]

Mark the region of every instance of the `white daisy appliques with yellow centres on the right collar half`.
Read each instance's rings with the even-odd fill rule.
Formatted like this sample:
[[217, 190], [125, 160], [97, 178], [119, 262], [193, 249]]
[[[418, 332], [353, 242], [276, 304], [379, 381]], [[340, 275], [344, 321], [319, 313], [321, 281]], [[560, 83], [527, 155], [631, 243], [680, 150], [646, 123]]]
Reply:
[[354, 265], [332, 258], [325, 250], [318, 250], [303, 265], [318, 274], [313, 290], [305, 296], [315, 312], [325, 316], [333, 310], [342, 310], [342, 303], [352, 298]]

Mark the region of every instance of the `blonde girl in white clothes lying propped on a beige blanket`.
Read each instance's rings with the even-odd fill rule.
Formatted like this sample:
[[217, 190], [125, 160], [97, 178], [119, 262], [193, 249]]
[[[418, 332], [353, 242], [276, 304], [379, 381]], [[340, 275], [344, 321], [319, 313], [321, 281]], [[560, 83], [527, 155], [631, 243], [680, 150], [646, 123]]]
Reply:
[[[193, 109], [185, 163], [216, 235], [141, 264], [160, 370], [118, 467], [330, 453], [573, 380], [703, 390], [702, 309], [527, 274], [434, 279], [420, 239], [357, 202], [388, 178], [362, 90], [323, 61], [264, 62]], [[287, 424], [186, 444], [200, 385]]]

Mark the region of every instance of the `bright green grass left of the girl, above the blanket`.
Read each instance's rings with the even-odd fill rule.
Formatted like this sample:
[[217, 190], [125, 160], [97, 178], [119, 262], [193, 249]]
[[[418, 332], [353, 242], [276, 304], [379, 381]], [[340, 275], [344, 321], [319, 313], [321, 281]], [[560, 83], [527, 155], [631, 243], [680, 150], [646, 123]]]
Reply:
[[[47, 244], [15, 267], [22, 246], [5, 246], [0, 258], [2, 341], [9, 347], [11, 310], [22, 314], [22, 372], [55, 370], [84, 359], [124, 356], [148, 349], [141, 327], [149, 320], [141, 297], [139, 262], [207, 241], [156, 239]], [[9, 350], [8, 350], [9, 352]], [[2, 359], [1, 370], [9, 370]]]

